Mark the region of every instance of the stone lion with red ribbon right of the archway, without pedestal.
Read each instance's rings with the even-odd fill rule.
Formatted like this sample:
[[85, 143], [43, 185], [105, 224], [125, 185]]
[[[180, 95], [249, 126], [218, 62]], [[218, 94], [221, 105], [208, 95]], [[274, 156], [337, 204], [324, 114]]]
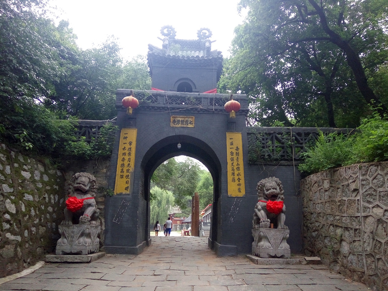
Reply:
[[257, 183], [256, 190], [259, 198], [253, 214], [253, 227], [288, 229], [284, 225], [286, 206], [282, 182], [275, 177], [265, 178]]

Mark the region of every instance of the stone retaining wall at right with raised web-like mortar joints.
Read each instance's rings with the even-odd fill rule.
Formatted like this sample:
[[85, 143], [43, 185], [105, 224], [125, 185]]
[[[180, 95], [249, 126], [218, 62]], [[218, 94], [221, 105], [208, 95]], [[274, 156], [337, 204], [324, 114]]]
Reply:
[[388, 162], [308, 176], [301, 194], [306, 255], [373, 290], [388, 290]]

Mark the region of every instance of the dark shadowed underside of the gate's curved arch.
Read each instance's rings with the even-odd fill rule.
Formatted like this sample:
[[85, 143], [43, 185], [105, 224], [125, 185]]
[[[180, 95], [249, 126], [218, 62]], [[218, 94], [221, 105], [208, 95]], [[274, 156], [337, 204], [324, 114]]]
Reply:
[[[177, 147], [177, 144], [180, 144], [180, 148]], [[219, 185], [222, 170], [220, 161], [213, 149], [211, 149], [211, 147], [203, 140], [187, 135], [173, 135], [166, 137], [154, 144], [145, 154], [142, 161], [142, 169], [144, 170], [144, 189], [146, 190], [145, 196], [149, 199], [151, 176], [156, 168], [167, 159], [181, 155], [197, 159], [208, 168], [211, 177], [213, 178], [213, 204], [214, 201], [217, 203], [220, 195]], [[217, 211], [214, 219], [217, 221]], [[151, 221], [149, 225], [152, 223], [154, 222]], [[217, 234], [217, 225], [211, 228], [210, 232], [213, 232], [213, 235], [209, 234], [209, 237], [215, 237], [215, 234]]]

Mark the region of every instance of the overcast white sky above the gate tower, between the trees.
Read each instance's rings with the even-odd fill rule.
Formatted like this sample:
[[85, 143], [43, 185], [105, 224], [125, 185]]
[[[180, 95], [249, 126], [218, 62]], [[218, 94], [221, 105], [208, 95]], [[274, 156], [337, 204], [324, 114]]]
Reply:
[[[52, 0], [57, 7], [58, 21], [69, 21], [78, 36], [82, 49], [89, 49], [114, 35], [122, 48], [121, 55], [130, 60], [135, 55], [146, 55], [148, 44], [161, 47], [160, 29], [172, 25], [176, 38], [197, 39], [200, 28], [209, 28], [213, 36], [212, 49], [229, 56], [234, 28], [244, 16], [237, 13], [239, 0]], [[242, 15], [244, 15], [242, 13]]]

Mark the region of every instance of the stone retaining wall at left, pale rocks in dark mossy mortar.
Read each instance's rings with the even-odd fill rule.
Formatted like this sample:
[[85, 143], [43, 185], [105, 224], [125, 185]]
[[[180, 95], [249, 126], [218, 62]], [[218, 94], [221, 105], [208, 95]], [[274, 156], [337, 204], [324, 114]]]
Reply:
[[63, 220], [63, 185], [53, 166], [0, 144], [0, 277], [54, 250]]

